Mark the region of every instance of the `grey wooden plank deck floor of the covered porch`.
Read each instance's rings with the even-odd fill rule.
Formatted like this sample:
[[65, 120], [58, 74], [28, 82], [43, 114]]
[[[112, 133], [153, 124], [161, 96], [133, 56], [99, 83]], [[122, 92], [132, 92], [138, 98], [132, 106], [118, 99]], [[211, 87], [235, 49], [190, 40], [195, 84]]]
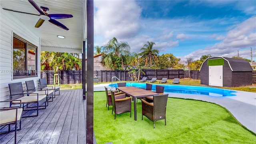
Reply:
[[[33, 113], [34, 112], [34, 113]], [[35, 114], [24, 111], [22, 115]], [[86, 100], [82, 89], [60, 90], [39, 115], [22, 118], [17, 144], [84, 144], [86, 143]], [[0, 144], [13, 144], [14, 132], [0, 135]]]

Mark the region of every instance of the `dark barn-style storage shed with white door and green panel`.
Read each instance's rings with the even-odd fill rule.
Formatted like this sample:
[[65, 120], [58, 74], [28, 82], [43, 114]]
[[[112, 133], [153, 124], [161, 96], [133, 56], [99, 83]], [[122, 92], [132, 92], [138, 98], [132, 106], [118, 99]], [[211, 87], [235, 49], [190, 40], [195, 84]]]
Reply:
[[237, 87], [252, 85], [252, 67], [237, 58], [207, 58], [200, 68], [201, 84], [207, 86]]

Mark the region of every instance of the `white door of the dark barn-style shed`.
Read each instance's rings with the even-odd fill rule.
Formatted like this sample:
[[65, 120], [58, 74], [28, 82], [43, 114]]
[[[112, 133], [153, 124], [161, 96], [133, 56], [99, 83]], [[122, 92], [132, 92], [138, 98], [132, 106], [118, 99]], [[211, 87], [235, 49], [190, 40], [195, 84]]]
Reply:
[[223, 86], [223, 66], [209, 66], [209, 86]]

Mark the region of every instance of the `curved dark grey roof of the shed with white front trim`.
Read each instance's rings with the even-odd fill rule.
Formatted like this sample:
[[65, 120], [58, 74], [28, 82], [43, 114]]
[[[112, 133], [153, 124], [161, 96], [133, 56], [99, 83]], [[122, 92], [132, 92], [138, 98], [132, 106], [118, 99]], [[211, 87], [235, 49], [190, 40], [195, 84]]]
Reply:
[[[223, 58], [224, 60], [226, 60], [232, 71], [242, 71], [242, 72], [252, 71], [252, 67], [250, 66], [249, 62], [247, 62], [246, 60], [238, 59], [238, 58], [227, 58], [227, 57], [211, 57], [211, 58], [207, 58], [206, 60], [213, 59], [213, 58]], [[206, 60], [204, 62], [206, 62]]]

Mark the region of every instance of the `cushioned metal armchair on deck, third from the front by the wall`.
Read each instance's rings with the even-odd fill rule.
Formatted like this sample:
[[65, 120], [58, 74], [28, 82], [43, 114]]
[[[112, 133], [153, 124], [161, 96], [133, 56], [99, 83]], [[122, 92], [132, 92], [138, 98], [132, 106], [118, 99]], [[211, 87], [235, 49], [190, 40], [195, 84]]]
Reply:
[[39, 87], [35, 87], [34, 80], [26, 81], [26, 86], [27, 86], [27, 93], [29, 94], [29, 96], [33, 96], [36, 94], [46, 95], [47, 96], [46, 106], [48, 106], [48, 102], [50, 98], [52, 98], [52, 101], [53, 101], [53, 90], [48, 90], [48, 89], [42, 90]]

